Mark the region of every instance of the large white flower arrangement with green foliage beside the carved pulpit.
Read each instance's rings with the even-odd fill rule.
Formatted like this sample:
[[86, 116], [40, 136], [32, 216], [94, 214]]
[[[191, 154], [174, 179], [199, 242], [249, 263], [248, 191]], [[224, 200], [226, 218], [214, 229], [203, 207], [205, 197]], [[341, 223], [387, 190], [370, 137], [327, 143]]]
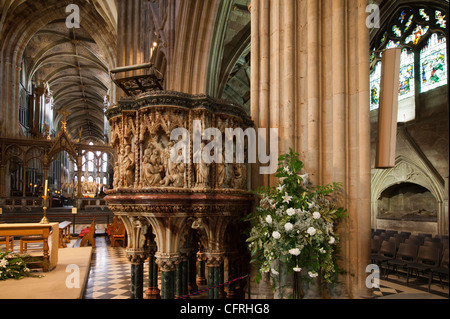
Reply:
[[311, 185], [308, 174], [299, 174], [304, 166], [292, 149], [278, 162], [280, 184], [259, 188], [259, 206], [246, 218], [251, 225], [247, 239], [251, 262], [258, 266], [256, 282], [263, 273], [279, 277], [280, 263], [294, 273], [295, 280], [319, 277], [322, 284], [335, 282], [340, 269], [339, 236], [334, 229], [347, 214], [337, 205], [341, 185]]

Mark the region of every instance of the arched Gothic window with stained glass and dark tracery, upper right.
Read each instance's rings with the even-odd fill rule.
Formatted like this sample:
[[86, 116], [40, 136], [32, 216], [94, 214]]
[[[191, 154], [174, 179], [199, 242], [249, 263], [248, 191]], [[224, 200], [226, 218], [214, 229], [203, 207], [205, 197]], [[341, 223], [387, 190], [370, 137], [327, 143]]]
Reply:
[[418, 4], [400, 7], [387, 20], [371, 46], [370, 110], [379, 107], [381, 57], [385, 49], [402, 49], [399, 107], [404, 101], [402, 105], [414, 108], [416, 94], [447, 84], [447, 15], [444, 8]]

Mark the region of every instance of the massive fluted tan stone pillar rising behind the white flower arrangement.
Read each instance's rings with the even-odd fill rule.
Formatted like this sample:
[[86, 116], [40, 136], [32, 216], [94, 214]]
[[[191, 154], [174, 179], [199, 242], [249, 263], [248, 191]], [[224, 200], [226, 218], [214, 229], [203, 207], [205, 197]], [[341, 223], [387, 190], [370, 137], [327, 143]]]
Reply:
[[[370, 296], [369, 30], [366, 0], [252, 0], [251, 114], [279, 129], [315, 185], [343, 184], [346, 275], [339, 296]], [[268, 145], [266, 145], [268, 147]], [[252, 168], [252, 188], [275, 186]]]

